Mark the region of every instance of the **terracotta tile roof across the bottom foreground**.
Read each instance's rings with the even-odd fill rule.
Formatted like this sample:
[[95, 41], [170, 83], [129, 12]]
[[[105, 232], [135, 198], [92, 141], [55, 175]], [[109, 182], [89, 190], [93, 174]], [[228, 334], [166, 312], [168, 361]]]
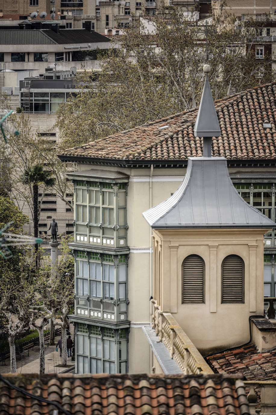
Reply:
[[[244, 384], [221, 375], [5, 374], [13, 384], [72, 414], [249, 414]], [[0, 381], [0, 414], [52, 414], [55, 407]]]

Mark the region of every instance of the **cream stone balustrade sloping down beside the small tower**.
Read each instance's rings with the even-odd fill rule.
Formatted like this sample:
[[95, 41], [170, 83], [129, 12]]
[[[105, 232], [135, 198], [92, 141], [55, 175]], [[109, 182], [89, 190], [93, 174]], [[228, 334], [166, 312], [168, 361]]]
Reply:
[[154, 300], [152, 303], [152, 327], [182, 372], [185, 375], [212, 374], [213, 371], [173, 315], [160, 310], [160, 306]]

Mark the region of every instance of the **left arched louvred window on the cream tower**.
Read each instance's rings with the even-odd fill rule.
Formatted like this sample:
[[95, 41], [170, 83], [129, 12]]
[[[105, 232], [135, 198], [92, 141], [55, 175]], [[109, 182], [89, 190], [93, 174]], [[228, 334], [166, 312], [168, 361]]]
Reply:
[[201, 256], [189, 255], [182, 263], [182, 304], [204, 303], [205, 264]]

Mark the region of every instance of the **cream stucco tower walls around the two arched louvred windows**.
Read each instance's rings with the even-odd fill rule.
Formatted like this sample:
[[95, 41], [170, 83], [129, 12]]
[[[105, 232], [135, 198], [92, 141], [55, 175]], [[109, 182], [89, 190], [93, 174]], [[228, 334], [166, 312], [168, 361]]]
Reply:
[[[249, 316], [263, 313], [264, 229], [154, 230], [154, 299], [172, 312], [202, 354], [249, 341]], [[205, 262], [205, 302], [182, 304], [182, 261], [196, 254]], [[235, 254], [245, 263], [244, 303], [221, 303], [221, 264]]]

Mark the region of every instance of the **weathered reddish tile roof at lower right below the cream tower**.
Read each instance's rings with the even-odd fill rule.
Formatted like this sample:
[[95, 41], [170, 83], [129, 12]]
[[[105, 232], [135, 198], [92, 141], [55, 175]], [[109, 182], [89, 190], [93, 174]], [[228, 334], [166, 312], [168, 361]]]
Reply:
[[252, 344], [206, 357], [215, 373], [242, 374], [247, 381], [276, 380], [276, 348], [258, 353]]

